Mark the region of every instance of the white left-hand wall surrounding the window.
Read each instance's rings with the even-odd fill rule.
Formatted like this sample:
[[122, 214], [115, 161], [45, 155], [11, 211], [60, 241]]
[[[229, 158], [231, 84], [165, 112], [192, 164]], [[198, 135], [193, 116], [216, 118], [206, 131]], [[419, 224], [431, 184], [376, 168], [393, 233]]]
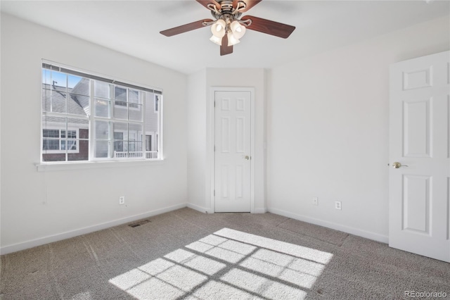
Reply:
[[[165, 161], [37, 172], [41, 58], [164, 89]], [[186, 206], [186, 75], [2, 14], [1, 80], [2, 253]]]

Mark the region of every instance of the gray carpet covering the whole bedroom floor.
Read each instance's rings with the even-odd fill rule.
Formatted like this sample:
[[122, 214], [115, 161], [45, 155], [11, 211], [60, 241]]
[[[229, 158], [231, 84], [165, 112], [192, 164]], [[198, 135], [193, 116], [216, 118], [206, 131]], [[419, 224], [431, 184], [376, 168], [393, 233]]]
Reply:
[[0, 299], [450, 299], [449, 263], [280, 215], [148, 220], [1, 256]]

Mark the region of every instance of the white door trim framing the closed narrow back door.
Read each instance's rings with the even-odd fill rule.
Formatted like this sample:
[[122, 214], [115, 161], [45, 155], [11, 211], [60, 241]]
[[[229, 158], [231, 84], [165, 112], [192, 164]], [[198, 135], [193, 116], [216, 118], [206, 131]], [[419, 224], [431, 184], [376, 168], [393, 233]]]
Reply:
[[[206, 187], [207, 199], [210, 198], [210, 212], [214, 213], [214, 142], [215, 142], [215, 111], [214, 101], [216, 92], [250, 92], [250, 213], [255, 213], [255, 88], [254, 87], [210, 87], [210, 100], [207, 101], [209, 108], [209, 124], [207, 124], [207, 173], [206, 182], [210, 185]], [[207, 118], [208, 120], [208, 118]], [[208, 168], [209, 165], [209, 168]]]

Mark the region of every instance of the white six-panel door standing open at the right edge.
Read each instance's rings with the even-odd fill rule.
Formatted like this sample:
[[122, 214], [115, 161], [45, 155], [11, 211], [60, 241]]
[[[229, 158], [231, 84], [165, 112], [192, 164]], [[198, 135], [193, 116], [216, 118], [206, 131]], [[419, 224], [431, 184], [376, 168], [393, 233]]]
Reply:
[[448, 262], [449, 55], [391, 65], [389, 171], [389, 245]]

